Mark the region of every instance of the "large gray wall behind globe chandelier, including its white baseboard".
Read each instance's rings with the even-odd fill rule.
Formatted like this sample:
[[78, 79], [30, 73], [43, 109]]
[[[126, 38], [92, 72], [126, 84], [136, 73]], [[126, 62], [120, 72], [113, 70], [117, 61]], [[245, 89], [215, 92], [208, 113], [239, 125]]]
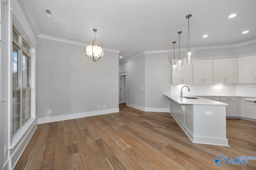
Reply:
[[119, 111], [118, 53], [105, 51], [93, 62], [83, 46], [38, 41], [38, 123]]

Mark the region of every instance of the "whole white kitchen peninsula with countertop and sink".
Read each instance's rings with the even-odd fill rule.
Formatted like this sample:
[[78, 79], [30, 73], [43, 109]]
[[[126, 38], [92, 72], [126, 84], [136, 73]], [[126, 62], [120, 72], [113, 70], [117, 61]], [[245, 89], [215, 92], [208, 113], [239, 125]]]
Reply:
[[164, 94], [170, 114], [193, 143], [229, 146], [226, 138], [226, 106], [194, 96]]

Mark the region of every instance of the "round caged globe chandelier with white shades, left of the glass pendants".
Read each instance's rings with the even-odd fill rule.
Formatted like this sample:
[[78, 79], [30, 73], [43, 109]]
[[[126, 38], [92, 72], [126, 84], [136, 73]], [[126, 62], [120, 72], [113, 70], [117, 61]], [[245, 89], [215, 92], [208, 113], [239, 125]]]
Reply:
[[101, 43], [95, 41], [95, 32], [97, 31], [96, 28], [92, 29], [94, 31], [94, 41], [84, 47], [84, 51], [86, 56], [92, 61], [98, 61], [98, 59], [102, 58], [104, 55], [104, 50]]

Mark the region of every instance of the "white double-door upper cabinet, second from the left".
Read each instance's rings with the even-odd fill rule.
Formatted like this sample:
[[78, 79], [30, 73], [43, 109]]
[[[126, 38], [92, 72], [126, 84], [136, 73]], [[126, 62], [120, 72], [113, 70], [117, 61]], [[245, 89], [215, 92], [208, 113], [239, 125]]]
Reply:
[[193, 84], [212, 84], [212, 60], [198, 60], [193, 64]]

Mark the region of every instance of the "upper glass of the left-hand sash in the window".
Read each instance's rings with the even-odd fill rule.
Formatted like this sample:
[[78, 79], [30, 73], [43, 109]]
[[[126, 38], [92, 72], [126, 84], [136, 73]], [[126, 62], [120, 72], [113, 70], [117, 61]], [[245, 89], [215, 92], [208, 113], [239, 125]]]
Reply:
[[12, 87], [18, 87], [18, 49], [12, 46]]

